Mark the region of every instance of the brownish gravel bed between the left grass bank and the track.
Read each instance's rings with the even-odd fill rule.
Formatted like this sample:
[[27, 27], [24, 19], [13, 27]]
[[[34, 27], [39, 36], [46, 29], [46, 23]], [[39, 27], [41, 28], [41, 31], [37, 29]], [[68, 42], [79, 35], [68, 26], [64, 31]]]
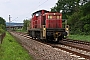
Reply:
[[26, 48], [30, 55], [32, 55], [35, 60], [79, 60], [77, 56], [71, 56], [72, 54], [62, 51], [57, 48], [53, 48], [49, 45], [40, 43], [38, 41], [27, 39], [11, 32], [11, 34], [18, 38], [21, 45]]

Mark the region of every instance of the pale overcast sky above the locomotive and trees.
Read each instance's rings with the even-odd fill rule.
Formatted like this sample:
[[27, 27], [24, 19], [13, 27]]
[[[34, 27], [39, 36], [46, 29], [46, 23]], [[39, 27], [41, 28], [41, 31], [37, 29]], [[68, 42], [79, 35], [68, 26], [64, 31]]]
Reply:
[[49, 10], [58, 0], [0, 0], [0, 17], [6, 22], [11, 15], [12, 22], [22, 23], [24, 19], [30, 19], [31, 14], [37, 10]]

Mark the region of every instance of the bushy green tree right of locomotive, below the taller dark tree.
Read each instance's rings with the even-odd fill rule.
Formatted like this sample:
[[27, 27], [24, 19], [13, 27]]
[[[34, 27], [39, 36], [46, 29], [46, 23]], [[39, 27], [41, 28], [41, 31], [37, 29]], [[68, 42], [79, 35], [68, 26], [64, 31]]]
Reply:
[[90, 33], [90, 2], [87, 2], [68, 18], [68, 24], [73, 33], [89, 34]]

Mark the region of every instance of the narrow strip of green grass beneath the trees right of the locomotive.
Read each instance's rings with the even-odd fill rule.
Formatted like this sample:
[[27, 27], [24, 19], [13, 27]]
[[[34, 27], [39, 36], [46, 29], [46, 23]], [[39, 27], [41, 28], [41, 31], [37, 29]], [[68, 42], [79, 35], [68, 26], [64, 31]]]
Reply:
[[90, 42], [90, 35], [70, 35], [68, 38]]

